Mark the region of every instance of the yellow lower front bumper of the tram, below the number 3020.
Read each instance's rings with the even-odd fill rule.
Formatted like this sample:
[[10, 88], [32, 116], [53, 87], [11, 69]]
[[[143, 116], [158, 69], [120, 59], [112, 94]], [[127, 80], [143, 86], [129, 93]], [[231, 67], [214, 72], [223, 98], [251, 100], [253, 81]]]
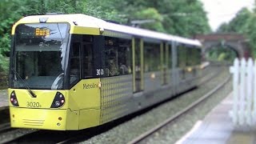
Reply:
[[[10, 125], [16, 128], [78, 130], [76, 111], [10, 107]], [[72, 119], [72, 122], [70, 122]]]

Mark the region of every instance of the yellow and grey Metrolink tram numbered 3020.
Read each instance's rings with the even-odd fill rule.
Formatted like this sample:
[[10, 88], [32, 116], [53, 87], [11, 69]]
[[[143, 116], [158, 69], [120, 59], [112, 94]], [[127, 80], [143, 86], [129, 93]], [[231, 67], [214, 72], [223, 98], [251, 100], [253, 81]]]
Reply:
[[12, 29], [12, 127], [82, 130], [198, 85], [197, 40], [85, 14], [28, 16]]

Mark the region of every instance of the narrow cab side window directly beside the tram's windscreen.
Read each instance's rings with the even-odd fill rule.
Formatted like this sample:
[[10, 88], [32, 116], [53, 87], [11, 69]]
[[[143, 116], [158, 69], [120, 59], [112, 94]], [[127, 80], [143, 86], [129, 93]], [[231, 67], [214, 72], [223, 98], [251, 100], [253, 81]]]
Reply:
[[70, 58], [70, 84], [78, 82], [80, 78], [80, 43], [74, 42]]

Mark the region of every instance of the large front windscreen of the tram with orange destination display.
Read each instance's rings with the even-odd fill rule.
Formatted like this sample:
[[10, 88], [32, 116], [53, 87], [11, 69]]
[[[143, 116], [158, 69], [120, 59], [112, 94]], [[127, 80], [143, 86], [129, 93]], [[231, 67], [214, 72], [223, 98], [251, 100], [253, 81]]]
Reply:
[[63, 88], [67, 23], [21, 24], [15, 30], [14, 88]]

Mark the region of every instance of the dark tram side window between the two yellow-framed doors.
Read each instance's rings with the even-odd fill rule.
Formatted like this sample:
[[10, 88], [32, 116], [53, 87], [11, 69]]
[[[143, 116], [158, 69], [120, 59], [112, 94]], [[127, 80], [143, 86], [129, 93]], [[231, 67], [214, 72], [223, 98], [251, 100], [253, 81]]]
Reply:
[[145, 42], [144, 59], [144, 72], [161, 70], [160, 44]]

